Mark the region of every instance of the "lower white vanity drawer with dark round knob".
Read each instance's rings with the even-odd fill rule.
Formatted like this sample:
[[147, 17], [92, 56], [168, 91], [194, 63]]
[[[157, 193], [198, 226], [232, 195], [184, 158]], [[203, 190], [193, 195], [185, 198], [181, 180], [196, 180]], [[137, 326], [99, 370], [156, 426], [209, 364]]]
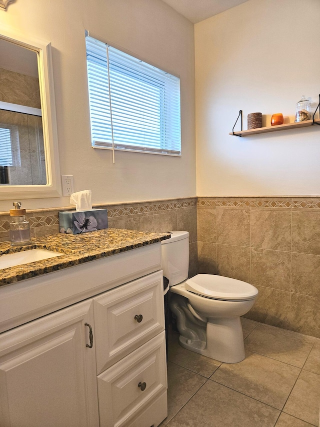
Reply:
[[166, 392], [165, 360], [163, 331], [98, 375], [100, 425], [134, 425], [138, 414]]

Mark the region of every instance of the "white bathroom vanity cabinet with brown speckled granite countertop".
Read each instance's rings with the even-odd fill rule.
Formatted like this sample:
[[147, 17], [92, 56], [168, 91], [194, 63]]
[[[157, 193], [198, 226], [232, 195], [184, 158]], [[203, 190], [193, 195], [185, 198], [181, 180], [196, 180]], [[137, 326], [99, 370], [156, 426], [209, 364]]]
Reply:
[[166, 417], [168, 237], [51, 236], [36, 245], [61, 256], [0, 270], [1, 426], [155, 427]]

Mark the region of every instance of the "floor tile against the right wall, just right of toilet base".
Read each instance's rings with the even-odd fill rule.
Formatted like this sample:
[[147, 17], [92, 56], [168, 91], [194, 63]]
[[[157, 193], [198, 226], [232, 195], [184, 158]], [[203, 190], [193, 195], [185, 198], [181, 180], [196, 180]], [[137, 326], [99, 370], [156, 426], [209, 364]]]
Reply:
[[302, 367], [316, 338], [259, 324], [244, 340], [247, 350]]

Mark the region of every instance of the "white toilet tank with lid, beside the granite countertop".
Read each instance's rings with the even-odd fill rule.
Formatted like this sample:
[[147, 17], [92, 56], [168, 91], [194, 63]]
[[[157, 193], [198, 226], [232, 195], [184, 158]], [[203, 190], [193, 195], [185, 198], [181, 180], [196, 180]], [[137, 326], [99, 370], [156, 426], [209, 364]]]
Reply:
[[189, 233], [171, 231], [171, 238], [161, 242], [161, 264], [163, 276], [169, 279], [169, 286], [188, 278], [189, 273]]

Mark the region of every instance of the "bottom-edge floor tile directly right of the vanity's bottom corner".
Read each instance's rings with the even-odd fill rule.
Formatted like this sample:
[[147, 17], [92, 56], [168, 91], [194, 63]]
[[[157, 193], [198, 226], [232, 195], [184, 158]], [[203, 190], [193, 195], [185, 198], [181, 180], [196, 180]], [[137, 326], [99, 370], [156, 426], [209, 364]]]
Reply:
[[208, 380], [168, 427], [273, 427], [279, 411]]

